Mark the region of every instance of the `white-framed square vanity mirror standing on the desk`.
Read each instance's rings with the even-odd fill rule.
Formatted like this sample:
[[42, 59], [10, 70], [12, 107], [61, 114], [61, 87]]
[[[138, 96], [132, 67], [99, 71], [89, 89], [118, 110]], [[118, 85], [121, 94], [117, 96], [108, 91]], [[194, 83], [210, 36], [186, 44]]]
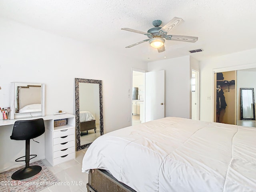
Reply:
[[44, 116], [44, 84], [11, 83], [10, 119]]

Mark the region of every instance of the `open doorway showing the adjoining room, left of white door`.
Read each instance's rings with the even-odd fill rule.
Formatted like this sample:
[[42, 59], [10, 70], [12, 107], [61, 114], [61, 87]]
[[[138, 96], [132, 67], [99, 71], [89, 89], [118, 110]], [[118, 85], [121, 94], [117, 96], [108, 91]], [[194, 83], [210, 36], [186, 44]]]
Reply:
[[145, 122], [145, 71], [132, 70], [132, 125]]

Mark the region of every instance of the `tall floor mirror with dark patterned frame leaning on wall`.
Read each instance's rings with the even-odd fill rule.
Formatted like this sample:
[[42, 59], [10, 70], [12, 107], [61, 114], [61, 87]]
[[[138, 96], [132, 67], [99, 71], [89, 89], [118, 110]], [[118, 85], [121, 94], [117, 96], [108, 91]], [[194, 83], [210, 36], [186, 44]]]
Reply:
[[102, 81], [75, 78], [76, 150], [103, 135]]

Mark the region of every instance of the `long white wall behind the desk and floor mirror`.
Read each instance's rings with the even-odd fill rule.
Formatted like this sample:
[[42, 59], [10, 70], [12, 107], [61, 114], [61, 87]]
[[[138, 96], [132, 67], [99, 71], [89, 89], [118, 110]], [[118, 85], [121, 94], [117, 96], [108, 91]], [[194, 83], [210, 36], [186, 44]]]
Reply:
[[[10, 82], [45, 83], [46, 115], [75, 114], [74, 78], [102, 80], [104, 132], [130, 126], [131, 68], [146, 70], [146, 63], [4, 18], [0, 42], [1, 107], [10, 106]], [[11, 132], [12, 126], [0, 127], [0, 170], [17, 166], [14, 159], [25, 154], [25, 142], [10, 140]], [[44, 158], [44, 142], [31, 153]]]

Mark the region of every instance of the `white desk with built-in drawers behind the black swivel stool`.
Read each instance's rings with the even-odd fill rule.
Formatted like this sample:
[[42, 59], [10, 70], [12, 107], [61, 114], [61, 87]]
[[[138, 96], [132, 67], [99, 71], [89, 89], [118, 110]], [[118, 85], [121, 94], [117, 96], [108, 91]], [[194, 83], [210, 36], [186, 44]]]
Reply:
[[[30, 145], [30, 153], [37, 154], [38, 156], [34, 158], [31, 162], [46, 159], [52, 166], [71, 160], [75, 158], [75, 116], [72, 114], [59, 114], [59, 115], [46, 115], [42, 117], [32, 117], [32, 118], [22, 118], [14, 120], [0, 120], [0, 172], [9, 170], [10, 168], [18, 167], [24, 165], [24, 162], [15, 162], [14, 160], [18, 157], [25, 155], [25, 141], [11, 140], [10, 135], [12, 134], [12, 128], [16, 121], [18, 120], [33, 120], [43, 118], [45, 125], [45, 134], [35, 138], [36, 141], [40, 142], [33, 143]], [[54, 120], [67, 119], [66, 126], [54, 127]], [[66, 131], [68, 130], [68, 131]], [[65, 132], [66, 131], [66, 132]], [[55, 140], [60, 140], [58, 137], [63, 137], [64, 132], [67, 133], [68, 138], [72, 138], [74, 142], [74, 148], [67, 150], [70, 154], [64, 159], [60, 158], [64, 156], [59, 152], [54, 153], [54, 142]], [[65, 135], [66, 136], [66, 135]], [[55, 139], [56, 138], [56, 139]], [[62, 143], [62, 141], [58, 141]], [[56, 144], [58, 144], [58, 142]], [[71, 145], [69, 145], [71, 147]], [[61, 149], [59, 149], [61, 150]], [[59, 156], [60, 155], [60, 156]], [[58, 160], [54, 161], [54, 158]], [[61, 159], [61, 160], [60, 160]]]

